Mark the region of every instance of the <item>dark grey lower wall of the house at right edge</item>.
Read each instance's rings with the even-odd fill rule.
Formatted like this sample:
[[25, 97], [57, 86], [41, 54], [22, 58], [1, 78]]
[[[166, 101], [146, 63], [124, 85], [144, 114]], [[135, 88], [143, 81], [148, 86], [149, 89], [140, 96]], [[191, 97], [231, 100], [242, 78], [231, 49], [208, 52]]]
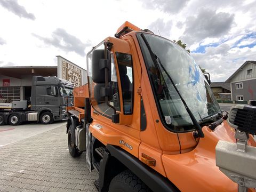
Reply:
[[[237, 83], [243, 83], [243, 89], [236, 89]], [[232, 99], [237, 100], [238, 95], [243, 95], [243, 100], [256, 100], [256, 79], [247, 81], [231, 82]]]

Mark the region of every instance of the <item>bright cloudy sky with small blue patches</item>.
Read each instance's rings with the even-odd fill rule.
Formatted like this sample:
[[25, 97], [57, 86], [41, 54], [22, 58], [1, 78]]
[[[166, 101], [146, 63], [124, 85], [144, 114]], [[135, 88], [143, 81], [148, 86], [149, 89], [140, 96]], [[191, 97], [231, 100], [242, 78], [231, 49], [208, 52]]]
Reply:
[[[86, 69], [86, 53], [125, 21], [187, 44], [212, 82], [256, 60], [255, 0], [0, 0], [0, 67]], [[1, 68], [0, 68], [1, 70]]]

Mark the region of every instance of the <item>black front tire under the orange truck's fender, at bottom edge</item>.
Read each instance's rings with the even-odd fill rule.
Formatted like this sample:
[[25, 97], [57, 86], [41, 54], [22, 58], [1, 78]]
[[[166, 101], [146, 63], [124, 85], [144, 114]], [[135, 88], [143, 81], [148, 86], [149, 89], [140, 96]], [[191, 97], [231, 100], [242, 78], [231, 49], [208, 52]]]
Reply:
[[146, 192], [151, 190], [130, 170], [125, 170], [116, 175], [110, 182], [109, 192], [116, 191]]

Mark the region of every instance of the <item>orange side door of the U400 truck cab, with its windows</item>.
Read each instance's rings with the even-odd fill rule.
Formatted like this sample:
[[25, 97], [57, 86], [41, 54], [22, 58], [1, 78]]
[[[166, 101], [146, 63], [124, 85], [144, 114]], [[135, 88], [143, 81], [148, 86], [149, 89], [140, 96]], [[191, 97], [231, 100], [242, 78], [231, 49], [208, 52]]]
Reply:
[[[111, 67], [108, 67], [107, 74], [107, 83], [111, 87], [108, 104], [115, 108], [119, 119], [115, 122], [116, 119], [113, 118], [115, 110], [107, 105], [106, 98], [102, 97], [108, 90], [105, 88], [104, 68], [98, 61], [98, 58], [104, 58], [102, 43], [87, 54], [88, 85], [94, 119], [90, 125], [90, 131], [103, 143], [120, 146], [134, 156], [138, 156], [140, 121], [137, 117], [140, 117], [140, 95], [134, 93], [134, 90], [139, 87], [138, 75], [134, 73], [129, 44], [114, 38], [109, 39], [109, 42], [113, 43], [113, 47], [108, 49], [110, 51], [108, 57], [111, 60]], [[135, 107], [134, 103], [136, 103]], [[93, 129], [97, 129], [97, 132]]]

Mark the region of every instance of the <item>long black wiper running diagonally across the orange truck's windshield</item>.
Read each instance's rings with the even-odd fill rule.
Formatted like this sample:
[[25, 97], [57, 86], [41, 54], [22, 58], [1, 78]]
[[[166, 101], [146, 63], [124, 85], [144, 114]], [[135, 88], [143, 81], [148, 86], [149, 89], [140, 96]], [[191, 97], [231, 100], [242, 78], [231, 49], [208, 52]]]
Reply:
[[[169, 77], [169, 79], [170, 79], [170, 81], [171, 81], [171, 83], [172, 83], [172, 85], [173, 85], [175, 91], [178, 93], [178, 95], [179, 95], [179, 97], [180, 97], [180, 99], [181, 99], [183, 105], [185, 106], [185, 109], [187, 110], [187, 112], [188, 112], [188, 114], [189, 114], [189, 116], [190, 116], [192, 122], [194, 123], [194, 125], [195, 125], [195, 127], [196, 127], [196, 130], [197, 130], [197, 133], [198, 133], [198, 137], [203, 138], [203, 137], [204, 137], [204, 133], [203, 133], [203, 131], [202, 131], [201, 126], [200, 126], [199, 123], [197, 122], [197, 120], [196, 120], [195, 116], [193, 115], [193, 113], [192, 113], [192, 112], [190, 111], [190, 109], [188, 108], [187, 103], [186, 103], [185, 100], [182, 98], [182, 96], [181, 96], [179, 90], [177, 89], [175, 83], [172, 81], [171, 76], [169, 75], [169, 73], [167, 73], [166, 69], [165, 69], [164, 66], [162, 65], [161, 60], [158, 58], [158, 56], [151, 50], [151, 47], [150, 47], [150, 45], [149, 45], [149, 43], [148, 43], [148, 41], [147, 41], [147, 39], [146, 39], [146, 37], [145, 37], [145, 35], [144, 35], [143, 33], [141, 33], [141, 37], [142, 37], [143, 41], [145, 42], [146, 46], [148, 47], [148, 51], [149, 51], [149, 53], [150, 53], [150, 56], [151, 56], [151, 58], [152, 58], [152, 60], [153, 60], [153, 62], [154, 62], [154, 64], [155, 64], [155, 66], [159, 69], [159, 65], [160, 65], [160, 66], [162, 67], [162, 69], [164, 70], [165, 74]], [[159, 64], [159, 65], [158, 65], [158, 64]], [[161, 71], [161, 70], [159, 69], [159, 71]]]

